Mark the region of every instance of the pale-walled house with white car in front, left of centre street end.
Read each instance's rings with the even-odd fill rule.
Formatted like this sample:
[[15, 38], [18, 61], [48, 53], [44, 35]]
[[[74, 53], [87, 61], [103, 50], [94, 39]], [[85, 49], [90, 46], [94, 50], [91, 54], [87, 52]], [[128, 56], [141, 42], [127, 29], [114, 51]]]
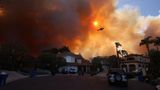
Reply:
[[89, 72], [90, 62], [85, 60], [80, 54], [76, 55], [72, 52], [58, 53], [58, 56], [65, 58], [67, 65], [60, 67], [59, 72], [78, 73]]

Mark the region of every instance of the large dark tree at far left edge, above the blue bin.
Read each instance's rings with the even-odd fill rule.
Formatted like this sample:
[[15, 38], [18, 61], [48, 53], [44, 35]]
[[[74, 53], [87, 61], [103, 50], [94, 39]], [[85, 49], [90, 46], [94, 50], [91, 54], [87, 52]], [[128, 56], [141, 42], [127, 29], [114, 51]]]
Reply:
[[17, 70], [27, 49], [17, 43], [5, 43], [0, 48], [0, 65], [4, 69]]

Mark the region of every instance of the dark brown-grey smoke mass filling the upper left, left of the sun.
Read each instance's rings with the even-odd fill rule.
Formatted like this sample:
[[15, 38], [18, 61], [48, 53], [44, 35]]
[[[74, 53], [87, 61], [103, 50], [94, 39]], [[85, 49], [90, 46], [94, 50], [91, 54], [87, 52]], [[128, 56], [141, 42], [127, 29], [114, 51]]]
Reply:
[[88, 0], [4, 0], [1, 6], [1, 42], [23, 43], [33, 52], [61, 47], [87, 34], [88, 26], [81, 23], [89, 22], [91, 15]]

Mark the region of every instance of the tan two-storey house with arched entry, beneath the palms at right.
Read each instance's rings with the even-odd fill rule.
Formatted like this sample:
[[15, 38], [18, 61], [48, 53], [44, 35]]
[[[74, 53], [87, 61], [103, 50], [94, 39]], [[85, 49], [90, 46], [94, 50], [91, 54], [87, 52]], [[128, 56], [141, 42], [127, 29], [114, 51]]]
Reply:
[[120, 67], [126, 72], [138, 72], [142, 71], [143, 74], [146, 74], [149, 68], [150, 59], [149, 57], [130, 54], [124, 57], [124, 60], [120, 62]]

